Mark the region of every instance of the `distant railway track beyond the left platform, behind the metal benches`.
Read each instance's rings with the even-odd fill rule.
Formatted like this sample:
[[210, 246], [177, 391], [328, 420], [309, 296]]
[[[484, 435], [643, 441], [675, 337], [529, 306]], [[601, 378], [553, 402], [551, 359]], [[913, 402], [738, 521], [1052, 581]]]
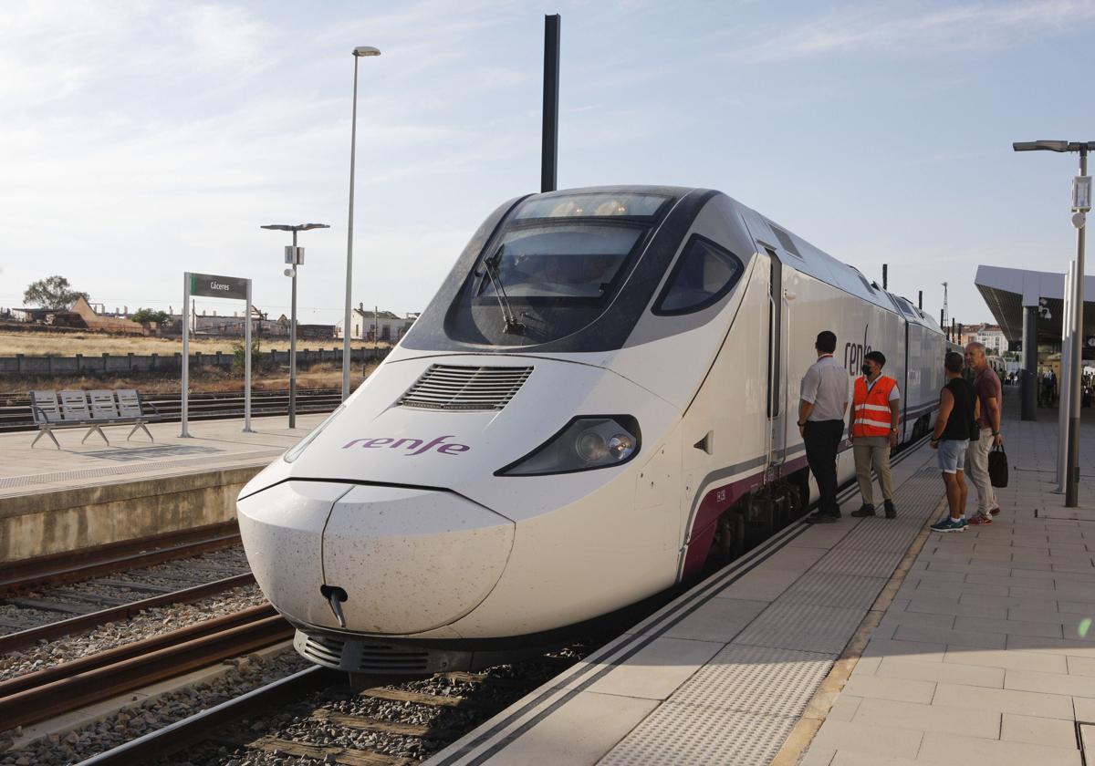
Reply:
[[[152, 405], [163, 416], [164, 421], [181, 418], [178, 394], [141, 394], [141, 398]], [[328, 413], [342, 404], [341, 388], [298, 388], [298, 413]], [[285, 415], [289, 411], [288, 391], [255, 391], [251, 394], [251, 414]], [[243, 417], [243, 394], [191, 394], [191, 420]], [[0, 432], [28, 431], [35, 429], [31, 415], [31, 401], [26, 397], [0, 397]]]

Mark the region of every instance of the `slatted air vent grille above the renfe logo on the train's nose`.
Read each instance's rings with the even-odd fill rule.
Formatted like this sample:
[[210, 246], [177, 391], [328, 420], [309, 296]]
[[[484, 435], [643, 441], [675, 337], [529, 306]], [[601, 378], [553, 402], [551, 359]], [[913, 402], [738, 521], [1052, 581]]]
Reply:
[[397, 404], [425, 409], [502, 409], [531, 374], [531, 367], [431, 364]]

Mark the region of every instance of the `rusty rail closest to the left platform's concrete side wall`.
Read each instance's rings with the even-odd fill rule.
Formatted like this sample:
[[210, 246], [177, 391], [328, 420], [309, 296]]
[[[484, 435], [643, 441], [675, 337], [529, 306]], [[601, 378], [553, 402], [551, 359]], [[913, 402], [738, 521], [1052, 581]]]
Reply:
[[240, 545], [240, 532], [231, 521], [81, 552], [41, 556], [0, 567], [0, 593], [44, 583], [72, 582], [233, 545]]

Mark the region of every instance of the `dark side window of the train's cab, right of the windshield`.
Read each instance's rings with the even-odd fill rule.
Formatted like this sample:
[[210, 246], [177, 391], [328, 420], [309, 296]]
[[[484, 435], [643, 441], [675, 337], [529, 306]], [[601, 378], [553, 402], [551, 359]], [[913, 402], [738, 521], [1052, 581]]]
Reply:
[[654, 304], [654, 313], [688, 314], [706, 309], [730, 291], [744, 270], [733, 253], [693, 234]]

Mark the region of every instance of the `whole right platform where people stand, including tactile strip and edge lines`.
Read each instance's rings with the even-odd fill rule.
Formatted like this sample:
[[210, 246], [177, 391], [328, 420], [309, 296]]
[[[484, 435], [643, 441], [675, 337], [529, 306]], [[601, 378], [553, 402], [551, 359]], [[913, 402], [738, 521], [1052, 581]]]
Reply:
[[930, 532], [935, 453], [908, 451], [897, 519], [845, 491], [427, 764], [1095, 763], [1093, 432], [1077, 511], [1056, 421], [1008, 420], [1002, 511], [963, 533]]

